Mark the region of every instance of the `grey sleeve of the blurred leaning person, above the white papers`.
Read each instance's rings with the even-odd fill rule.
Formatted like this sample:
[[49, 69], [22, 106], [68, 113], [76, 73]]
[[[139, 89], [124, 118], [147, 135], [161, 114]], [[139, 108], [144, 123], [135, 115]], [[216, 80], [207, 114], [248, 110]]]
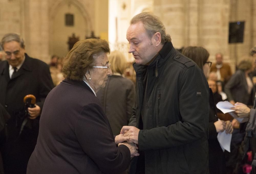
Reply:
[[231, 89], [239, 84], [239, 80], [240, 80], [239, 74], [235, 73], [233, 76], [231, 76], [228, 83], [225, 85], [224, 91], [227, 94], [228, 101], [234, 100], [231, 93]]

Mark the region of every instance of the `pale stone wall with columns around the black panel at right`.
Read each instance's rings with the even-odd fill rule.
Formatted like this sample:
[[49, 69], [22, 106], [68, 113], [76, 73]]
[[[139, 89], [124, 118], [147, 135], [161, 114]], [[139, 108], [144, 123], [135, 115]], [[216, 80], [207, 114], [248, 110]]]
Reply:
[[[203, 46], [212, 62], [221, 52], [233, 72], [256, 45], [255, 9], [256, 0], [154, 0], [154, 14], [162, 19], [176, 48]], [[228, 43], [233, 21], [246, 21], [243, 43]]]

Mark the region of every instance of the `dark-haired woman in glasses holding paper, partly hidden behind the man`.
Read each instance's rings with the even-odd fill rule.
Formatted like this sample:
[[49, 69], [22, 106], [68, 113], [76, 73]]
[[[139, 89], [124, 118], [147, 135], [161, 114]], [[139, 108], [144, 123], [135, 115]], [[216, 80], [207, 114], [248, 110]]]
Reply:
[[[212, 63], [208, 60], [209, 53], [205, 48], [189, 46], [183, 49], [182, 54], [192, 59], [199, 66], [199, 68], [201, 68], [204, 71], [204, 74], [207, 78]], [[222, 120], [218, 120], [216, 106], [214, 103], [214, 97], [211, 88], [209, 88], [209, 91], [209, 170], [211, 174], [225, 174], [225, 156], [218, 142], [217, 135], [218, 132], [223, 132], [224, 130], [226, 130], [227, 134], [232, 133], [233, 128], [230, 121], [224, 122]]]

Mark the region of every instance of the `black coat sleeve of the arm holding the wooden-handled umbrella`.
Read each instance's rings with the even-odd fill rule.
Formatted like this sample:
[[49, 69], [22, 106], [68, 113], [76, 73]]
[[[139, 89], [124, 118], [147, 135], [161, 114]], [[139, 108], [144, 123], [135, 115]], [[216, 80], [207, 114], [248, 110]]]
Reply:
[[54, 87], [52, 79], [51, 79], [51, 74], [50, 74], [50, 70], [49, 70], [49, 66], [46, 63], [41, 63], [40, 65], [40, 71], [39, 71], [39, 75], [38, 75], [38, 80], [39, 80], [39, 84], [38, 84], [38, 96], [36, 99], [36, 104], [41, 108], [42, 111], [42, 107], [44, 105], [45, 102], [45, 98], [48, 95], [48, 93], [52, 90], [52, 88]]

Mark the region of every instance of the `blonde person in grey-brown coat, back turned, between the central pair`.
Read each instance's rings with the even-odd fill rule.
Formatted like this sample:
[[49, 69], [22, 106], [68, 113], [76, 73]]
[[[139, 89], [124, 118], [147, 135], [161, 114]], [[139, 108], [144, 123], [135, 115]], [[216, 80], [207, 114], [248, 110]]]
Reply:
[[122, 75], [126, 69], [126, 59], [120, 51], [109, 55], [113, 75], [108, 78], [106, 86], [99, 90], [97, 97], [108, 117], [113, 134], [120, 134], [123, 126], [127, 126], [132, 116], [135, 102], [135, 85]]

